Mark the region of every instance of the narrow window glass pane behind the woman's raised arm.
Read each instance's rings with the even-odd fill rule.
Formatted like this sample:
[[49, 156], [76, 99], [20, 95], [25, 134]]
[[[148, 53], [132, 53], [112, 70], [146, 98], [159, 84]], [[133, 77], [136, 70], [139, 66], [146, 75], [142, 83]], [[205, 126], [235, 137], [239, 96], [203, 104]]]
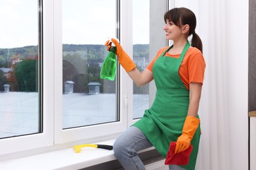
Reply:
[[[149, 0], [133, 1], [133, 61], [143, 71], [149, 63]], [[141, 118], [149, 106], [149, 84], [133, 83], [133, 118]]]

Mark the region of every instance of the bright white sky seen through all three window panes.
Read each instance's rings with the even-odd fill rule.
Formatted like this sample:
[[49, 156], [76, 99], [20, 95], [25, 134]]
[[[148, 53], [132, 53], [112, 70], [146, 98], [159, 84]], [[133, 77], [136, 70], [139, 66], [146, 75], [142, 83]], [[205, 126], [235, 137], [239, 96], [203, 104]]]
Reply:
[[[149, 0], [133, 1], [133, 43], [149, 42]], [[0, 0], [0, 48], [37, 45], [37, 0]], [[62, 0], [62, 43], [116, 37], [116, 0]]]

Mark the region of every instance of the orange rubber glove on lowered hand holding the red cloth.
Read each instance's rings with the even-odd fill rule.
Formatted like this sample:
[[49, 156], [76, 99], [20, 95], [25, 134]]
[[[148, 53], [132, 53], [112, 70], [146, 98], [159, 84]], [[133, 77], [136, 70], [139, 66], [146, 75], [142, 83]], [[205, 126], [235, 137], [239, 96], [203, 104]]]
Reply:
[[176, 147], [175, 147], [175, 154], [186, 150], [196, 133], [196, 129], [200, 124], [200, 119], [193, 117], [193, 116], [186, 116], [186, 120], [183, 125], [182, 134], [178, 137]]

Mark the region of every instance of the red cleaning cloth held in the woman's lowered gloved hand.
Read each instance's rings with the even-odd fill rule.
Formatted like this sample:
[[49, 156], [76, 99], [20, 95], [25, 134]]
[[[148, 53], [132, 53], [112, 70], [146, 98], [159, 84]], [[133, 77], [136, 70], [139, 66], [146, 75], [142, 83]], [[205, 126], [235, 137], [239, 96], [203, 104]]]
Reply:
[[170, 143], [167, 157], [165, 159], [165, 165], [187, 165], [193, 146], [190, 144], [186, 150], [179, 152], [178, 154], [174, 154], [175, 146], [176, 142]]

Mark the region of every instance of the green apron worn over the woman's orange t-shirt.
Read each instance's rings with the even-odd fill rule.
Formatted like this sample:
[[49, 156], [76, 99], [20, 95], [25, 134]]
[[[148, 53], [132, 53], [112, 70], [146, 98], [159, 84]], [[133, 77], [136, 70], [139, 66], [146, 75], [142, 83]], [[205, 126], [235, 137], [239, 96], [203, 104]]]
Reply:
[[[133, 124], [133, 126], [139, 127], [156, 150], [165, 158], [169, 144], [177, 141], [182, 134], [189, 105], [189, 91], [179, 76], [179, 67], [190, 43], [186, 43], [179, 58], [165, 57], [165, 53], [172, 47], [165, 50], [153, 65], [152, 73], [157, 91], [152, 107], [145, 110], [144, 116]], [[200, 134], [199, 126], [191, 142], [193, 150], [189, 163], [181, 166], [184, 169], [194, 169], [196, 165]]]

